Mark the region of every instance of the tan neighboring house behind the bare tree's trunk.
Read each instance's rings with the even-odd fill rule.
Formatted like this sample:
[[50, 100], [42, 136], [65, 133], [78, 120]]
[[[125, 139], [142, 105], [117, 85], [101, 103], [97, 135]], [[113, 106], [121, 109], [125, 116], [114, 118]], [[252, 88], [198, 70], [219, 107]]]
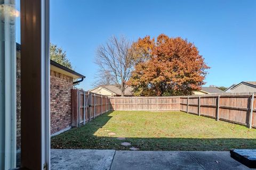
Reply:
[[[105, 96], [121, 96], [121, 90], [115, 85], [100, 85], [91, 90], [95, 94], [105, 95]], [[133, 96], [132, 87], [127, 87], [124, 91], [124, 96]]]

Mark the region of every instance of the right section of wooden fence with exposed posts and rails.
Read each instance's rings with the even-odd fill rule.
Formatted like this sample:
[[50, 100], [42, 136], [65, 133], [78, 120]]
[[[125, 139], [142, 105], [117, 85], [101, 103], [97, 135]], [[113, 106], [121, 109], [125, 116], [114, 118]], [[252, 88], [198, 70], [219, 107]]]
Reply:
[[181, 96], [180, 111], [256, 128], [255, 94]]

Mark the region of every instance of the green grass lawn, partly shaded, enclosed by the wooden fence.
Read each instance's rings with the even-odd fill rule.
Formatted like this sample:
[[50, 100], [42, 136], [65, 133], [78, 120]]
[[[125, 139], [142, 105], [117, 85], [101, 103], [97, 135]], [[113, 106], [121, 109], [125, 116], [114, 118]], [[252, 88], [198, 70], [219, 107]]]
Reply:
[[[115, 135], [109, 135], [114, 132]], [[123, 137], [125, 140], [118, 140]], [[131, 146], [122, 146], [130, 142]], [[183, 112], [115, 111], [51, 139], [55, 149], [230, 150], [256, 148], [256, 130]]]

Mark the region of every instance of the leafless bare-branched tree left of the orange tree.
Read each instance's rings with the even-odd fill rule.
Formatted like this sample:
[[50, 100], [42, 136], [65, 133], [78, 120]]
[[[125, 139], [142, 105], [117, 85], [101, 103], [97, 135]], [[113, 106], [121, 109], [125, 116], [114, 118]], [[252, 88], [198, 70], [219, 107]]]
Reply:
[[95, 57], [98, 84], [115, 84], [121, 90], [122, 96], [133, 69], [130, 47], [130, 41], [124, 36], [119, 39], [113, 36], [106, 44], [98, 47]]

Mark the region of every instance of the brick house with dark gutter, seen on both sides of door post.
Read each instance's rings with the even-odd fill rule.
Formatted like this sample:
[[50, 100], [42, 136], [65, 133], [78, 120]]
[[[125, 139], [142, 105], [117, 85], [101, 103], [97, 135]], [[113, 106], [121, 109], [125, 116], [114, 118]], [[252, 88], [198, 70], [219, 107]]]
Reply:
[[[20, 149], [21, 46], [17, 43], [17, 149]], [[23, 57], [23, 56], [22, 56]], [[26, 56], [24, 56], [26, 57]], [[85, 76], [50, 61], [51, 134], [71, 128], [71, 89]], [[77, 79], [81, 79], [77, 81]]]

